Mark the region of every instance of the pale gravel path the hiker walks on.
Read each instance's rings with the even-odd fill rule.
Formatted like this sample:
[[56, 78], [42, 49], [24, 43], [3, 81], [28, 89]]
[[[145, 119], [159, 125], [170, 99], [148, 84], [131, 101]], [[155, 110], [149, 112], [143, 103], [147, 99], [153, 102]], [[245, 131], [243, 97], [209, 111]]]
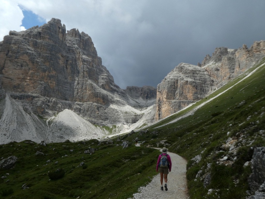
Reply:
[[[137, 145], [139, 146], [139, 145]], [[154, 148], [159, 149], [159, 148]], [[162, 151], [162, 149], [159, 149]], [[171, 172], [167, 176], [168, 191], [160, 190], [160, 174], [158, 173], [146, 187], [140, 187], [133, 198], [128, 199], [188, 199], [186, 180], [186, 160], [175, 153], [168, 152], [172, 162]], [[157, 158], [158, 158], [157, 154]], [[164, 185], [164, 181], [163, 181]]]

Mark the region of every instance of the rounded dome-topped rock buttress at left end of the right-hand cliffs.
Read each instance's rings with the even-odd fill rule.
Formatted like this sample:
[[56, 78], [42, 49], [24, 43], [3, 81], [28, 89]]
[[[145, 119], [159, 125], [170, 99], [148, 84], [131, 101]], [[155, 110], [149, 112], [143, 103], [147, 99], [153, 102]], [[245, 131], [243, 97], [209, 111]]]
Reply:
[[180, 63], [157, 85], [156, 120], [203, 98], [211, 86], [213, 81], [203, 68]]

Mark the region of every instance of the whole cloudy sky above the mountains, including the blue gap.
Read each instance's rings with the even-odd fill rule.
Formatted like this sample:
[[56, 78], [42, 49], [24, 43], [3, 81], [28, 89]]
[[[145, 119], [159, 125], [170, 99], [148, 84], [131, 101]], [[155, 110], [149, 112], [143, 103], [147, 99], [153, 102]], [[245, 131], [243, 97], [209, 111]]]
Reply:
[[0, 41], [58, 18], [94, 42], [114, 81], [154, 86], [216, 47], [265, 40], [265, 0], [0, 0]]

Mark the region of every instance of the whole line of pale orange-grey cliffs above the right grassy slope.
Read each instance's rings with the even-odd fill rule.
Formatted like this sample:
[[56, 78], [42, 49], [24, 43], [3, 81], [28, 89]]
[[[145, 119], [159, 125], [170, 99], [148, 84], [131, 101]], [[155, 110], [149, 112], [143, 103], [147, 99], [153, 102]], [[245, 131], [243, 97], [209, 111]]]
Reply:
[[[265, 57], [265, 41], [247, 48], [216, 48], [201, 64], [179, 64], [157, 86], [155, 120], [173, 114], [207, 96], [229, 80], [239, 76]], [[203, 74], [203, 75], [202, 75]]]

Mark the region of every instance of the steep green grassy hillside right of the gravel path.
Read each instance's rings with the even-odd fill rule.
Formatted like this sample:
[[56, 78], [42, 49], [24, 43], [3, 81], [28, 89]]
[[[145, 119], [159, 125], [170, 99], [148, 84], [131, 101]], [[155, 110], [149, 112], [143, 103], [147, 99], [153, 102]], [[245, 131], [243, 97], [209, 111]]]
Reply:
[[[263, 59], [250, 71], [264, 61]], [[245, 198], [246, 191], [249, 190], [247, 179], [252, 171], [250, 166], [243, 165], [251, 160], [255, 147], [265, 146], [265, 66], [242, 80], [245, 76], [241, 75], [187, 110], [148, 127], [147, 133], [142, 131], [126, 139], [133, 140], [138, 137], [144, 141], [142, 146], [161, 148], [166, 145], [170, 152], [187, 159], [190, 198]], [[239, 82], [240, 80], [242, 81]], [[232, 85], [235, 86], [197, 109], [192, 115], [158, 127], [194, 110]], [[230, 151], [226, 145], [229, 137], [235, 150]], [[230, 157], [228, 161], [220, 161], [226, 155]], [[198, 161], [195, 157], [199, 158]], [[237, 157], [236, 161], [233, 161], [234, 157]], [[208, 164], [211, 164], [210, 168], [207, 167]], [[200, 170], [201, 177], [196, 179]], [[211, 175], [211, 181], [204, 187], [207, 174]], [[213, 191], [208, 194], [209, 189]]]

